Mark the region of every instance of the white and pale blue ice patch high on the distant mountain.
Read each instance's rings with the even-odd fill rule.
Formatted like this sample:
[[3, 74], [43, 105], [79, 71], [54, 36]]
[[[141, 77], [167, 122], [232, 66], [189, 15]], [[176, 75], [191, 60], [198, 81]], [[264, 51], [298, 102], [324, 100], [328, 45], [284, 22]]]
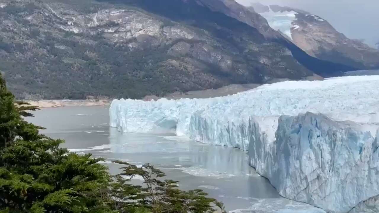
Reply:
[[293, 28], [293, 22], [296, 21], [295, 11], [279, 11], [274, 12], [269, 6], [269, 11], [260, 13], [267, 21], [271, 28], [280, 31], [292, 39], [291, 28]]

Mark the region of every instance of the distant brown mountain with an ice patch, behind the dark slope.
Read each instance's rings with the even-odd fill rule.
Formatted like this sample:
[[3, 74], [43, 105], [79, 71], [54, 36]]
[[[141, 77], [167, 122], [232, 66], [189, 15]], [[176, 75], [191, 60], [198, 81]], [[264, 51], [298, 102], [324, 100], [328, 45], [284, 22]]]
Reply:
[[272, 28], [311, 56], [357, 69], [379, 67], [379, 50], [357, 39], [347, 38], [319, 16], [278, 5], [253, 3], [251, 8], [265, 17]]

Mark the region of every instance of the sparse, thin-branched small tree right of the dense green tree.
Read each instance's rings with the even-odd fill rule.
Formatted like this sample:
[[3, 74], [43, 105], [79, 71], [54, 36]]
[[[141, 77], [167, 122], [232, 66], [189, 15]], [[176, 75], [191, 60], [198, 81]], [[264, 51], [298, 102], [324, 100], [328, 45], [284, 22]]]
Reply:
[[129, 178], [135, 175], [141, 176], [144, 180], [144, 187], [141, 188], [141, 200], [152, 213], [212, 213], [214, 207], [218, 207], [225, 212], [223, 204], [215, 199], [208, 198], [207, 193], [202, 190], [181, 191], [178, 182], [174, 180], [161, 180], [165, 177], [164, 172], [154, 168], [150, 164], [141, 167], [122, 161], [114, 161], [124, 165], [123, 172], [118, 176]]

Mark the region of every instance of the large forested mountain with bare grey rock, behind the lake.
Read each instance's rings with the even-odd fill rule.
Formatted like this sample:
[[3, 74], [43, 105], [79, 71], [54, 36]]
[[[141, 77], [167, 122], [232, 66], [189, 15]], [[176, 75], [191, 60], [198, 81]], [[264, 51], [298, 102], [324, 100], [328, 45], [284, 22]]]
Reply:
[[23, 99], [141, 98], [333, 76], [234, 0], [0, 0], [0, 70]]

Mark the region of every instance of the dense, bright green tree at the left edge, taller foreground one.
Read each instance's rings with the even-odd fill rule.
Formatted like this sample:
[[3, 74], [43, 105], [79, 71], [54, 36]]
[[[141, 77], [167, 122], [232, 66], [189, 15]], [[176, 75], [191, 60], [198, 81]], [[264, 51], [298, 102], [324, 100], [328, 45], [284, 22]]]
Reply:
[[101, 159], [59, 147], [23, 120], [37, 110], [14, 100], [0, 76], [0, 212], [111, 212], [99, 189], [111, 180]]

